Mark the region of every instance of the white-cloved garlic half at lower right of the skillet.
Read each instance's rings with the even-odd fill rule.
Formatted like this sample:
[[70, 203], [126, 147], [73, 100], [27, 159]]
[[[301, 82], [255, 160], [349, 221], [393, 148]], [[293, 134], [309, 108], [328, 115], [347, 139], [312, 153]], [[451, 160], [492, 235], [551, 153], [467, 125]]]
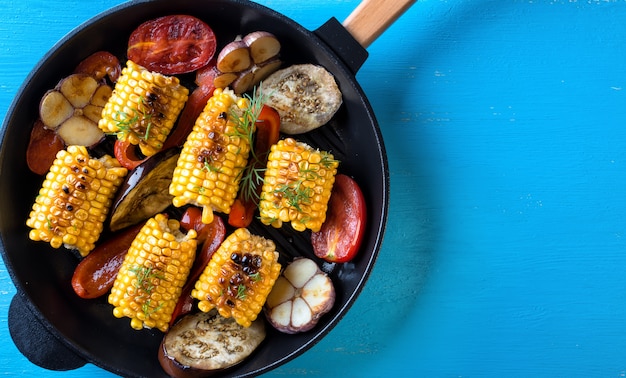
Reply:
[[305, 332], [335, 303], [335, 287], [328, 275], [307, 258], [287, 265], [267, 297], [265, 314], [284, 333]]

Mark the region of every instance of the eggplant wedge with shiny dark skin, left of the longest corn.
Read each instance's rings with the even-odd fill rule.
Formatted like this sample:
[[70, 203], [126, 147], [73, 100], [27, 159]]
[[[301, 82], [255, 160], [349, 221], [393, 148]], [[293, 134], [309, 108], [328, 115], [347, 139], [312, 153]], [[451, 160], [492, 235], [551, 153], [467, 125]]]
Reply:
[[172, 204], [169, 185], [179, 155], [179, 148], [161, 151], [126, 176], [113, 202], [111, 231], [142, 222]]

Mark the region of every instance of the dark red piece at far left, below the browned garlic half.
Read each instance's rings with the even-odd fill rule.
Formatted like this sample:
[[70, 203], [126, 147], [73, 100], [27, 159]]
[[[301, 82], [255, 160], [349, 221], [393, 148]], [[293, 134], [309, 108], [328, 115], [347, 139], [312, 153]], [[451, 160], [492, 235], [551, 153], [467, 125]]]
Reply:
[[54, 130], [46, 129], [41, 120], [37, 120], [30, 132], [30, 140], [26, 148], [26, 163], [28, 168], [38, 174], [45, 175], [57, 152], [65, 148], [63, 140]]

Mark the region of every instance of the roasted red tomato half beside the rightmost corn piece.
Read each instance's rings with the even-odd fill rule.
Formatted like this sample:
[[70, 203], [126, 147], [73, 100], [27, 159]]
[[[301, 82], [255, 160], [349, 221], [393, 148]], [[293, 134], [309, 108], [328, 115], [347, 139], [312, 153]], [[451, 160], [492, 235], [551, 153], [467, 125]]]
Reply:
[[343, 263], [354, 258], [365, 232], [367, 209], [356, 181], [338, 174], [328, 202], [326, 221], [311, 234], [315, 256]]

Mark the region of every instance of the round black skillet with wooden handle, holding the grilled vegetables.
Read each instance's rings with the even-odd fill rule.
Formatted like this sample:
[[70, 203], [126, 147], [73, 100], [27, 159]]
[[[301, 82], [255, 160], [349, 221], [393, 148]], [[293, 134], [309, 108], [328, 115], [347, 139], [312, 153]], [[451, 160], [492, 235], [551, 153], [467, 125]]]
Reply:
[[[413, 1], [384, 0], [384, 5], [383, 0], [365, 1], [344, 25], [331, 18], [312, 32], [271, 9], [244, 0], [133, 1], [87, 21], [59, 41], [20, 88], [1, 136], [0, 247], [17, 288], [9, 310], [9, 329], [18, 349], [30, 361], [47, 369], [69, 370], [89, 362], [122, 376], [165, 376], [157, 360], [163, 334], [132, 330], [128, 319], [112, 316], [106, 298], [77, 297], [70, 286], [77, 257], [28, 239], [25, 220], [42, 177], [29, 173], [25, 151], [29, 125], [36, 119], [39, 99], [47, 89], [95, 51], [107, 50], [125, 61], [125, 41], [136, 26], [176, 13], [203, 19], [222, 45], [237, 34], [272, 32], [282, 42], [285, 62], [322, 65], [338, 81], [343, 93], [342, 108], [328, 125], [298, 139], [332, 151], [341, 161], [340, 172], [354, 177], [363, 189], [368, 225], [361, 251], [350, 263], [335, 265], [317, 260], [334, 281], [337, 298], [333, 310], [316, 328], [297, 335], [270, 329], [259, 349], [228, 375], [256, 376], [267, 372], [321, 340], [362, 290], [380, 250], [387, 220], [387, 157], [378, 123], [355, 74], [367, 58], [365, 47]], [[283, 262], [294, 256], [315, 258], [307, 233], [268, 229], [256, 223], [251, 228], [276, 241]]]

